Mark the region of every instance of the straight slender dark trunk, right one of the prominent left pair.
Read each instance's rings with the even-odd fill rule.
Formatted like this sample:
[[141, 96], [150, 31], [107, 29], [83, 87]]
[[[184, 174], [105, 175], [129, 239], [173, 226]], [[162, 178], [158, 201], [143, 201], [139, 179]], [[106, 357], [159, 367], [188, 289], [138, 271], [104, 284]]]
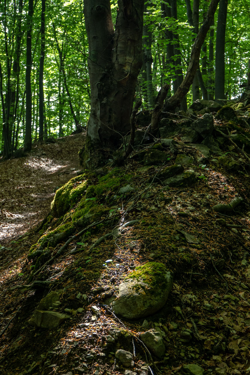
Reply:
[[41, 55], [39, 60], [39, 141], [44, 140], [44, 57], [45, 57], [45, 1], [41, 13]]

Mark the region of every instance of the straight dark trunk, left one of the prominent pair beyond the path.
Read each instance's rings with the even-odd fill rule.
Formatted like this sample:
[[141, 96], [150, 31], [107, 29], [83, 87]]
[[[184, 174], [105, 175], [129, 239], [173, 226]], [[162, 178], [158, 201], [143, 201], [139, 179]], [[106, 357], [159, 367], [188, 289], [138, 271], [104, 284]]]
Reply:
[[24, 150], [30, 151], [32, 145], [32, 91], [31, 91], [31, 68], [32, 68], [32, 17], [33, 0], [29, 0], [27, 17], [27, 38], [26, 38], [26, 112], [25, 112], [25, 138]]

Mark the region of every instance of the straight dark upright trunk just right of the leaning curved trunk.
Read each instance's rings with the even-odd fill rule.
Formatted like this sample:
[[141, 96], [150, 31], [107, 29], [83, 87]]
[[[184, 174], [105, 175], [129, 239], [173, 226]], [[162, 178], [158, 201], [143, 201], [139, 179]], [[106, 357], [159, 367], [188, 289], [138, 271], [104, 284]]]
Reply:
[[215, 86], [214, 98], [225, 99], [225, 34], [226, 34], [226, 19], [227, 19], [227, 0], [220, 0], [217, 32], [216, 32], [216, 46], [215, 46]]

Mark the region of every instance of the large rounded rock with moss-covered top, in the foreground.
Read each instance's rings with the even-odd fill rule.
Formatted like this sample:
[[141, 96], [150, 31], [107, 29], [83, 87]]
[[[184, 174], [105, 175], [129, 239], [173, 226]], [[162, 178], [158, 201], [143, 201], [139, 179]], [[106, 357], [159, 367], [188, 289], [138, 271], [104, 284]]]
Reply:
[[152, 315], [165, 305], [172, 285], [172, 276], [164, 264], [149, 262], [136, 267], [111, 301], [114, 314], [128, 319]]

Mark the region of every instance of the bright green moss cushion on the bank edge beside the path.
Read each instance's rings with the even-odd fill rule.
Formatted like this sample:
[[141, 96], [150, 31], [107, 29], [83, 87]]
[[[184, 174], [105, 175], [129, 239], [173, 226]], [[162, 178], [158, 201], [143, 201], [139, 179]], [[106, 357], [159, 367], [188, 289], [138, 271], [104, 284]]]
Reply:
[[83, 180], [83, 175], [71, 178], [69, 182], [56, 191], [51, 203], [51, 213], [54, 217], [62, 216], [69, 210], [72, 204], [80, 199], [85, 193], [87, 181]]

